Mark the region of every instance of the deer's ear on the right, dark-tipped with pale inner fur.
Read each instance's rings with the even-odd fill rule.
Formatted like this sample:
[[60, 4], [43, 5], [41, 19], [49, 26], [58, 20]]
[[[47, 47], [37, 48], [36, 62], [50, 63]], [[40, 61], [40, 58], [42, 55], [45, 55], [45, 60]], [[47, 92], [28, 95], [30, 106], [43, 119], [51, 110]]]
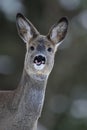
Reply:
[[67, 29], [68, 19], [66, 17], [62, 17], [56, 24], [52, 26], [47, 37], [58, 46], [65, 38]]

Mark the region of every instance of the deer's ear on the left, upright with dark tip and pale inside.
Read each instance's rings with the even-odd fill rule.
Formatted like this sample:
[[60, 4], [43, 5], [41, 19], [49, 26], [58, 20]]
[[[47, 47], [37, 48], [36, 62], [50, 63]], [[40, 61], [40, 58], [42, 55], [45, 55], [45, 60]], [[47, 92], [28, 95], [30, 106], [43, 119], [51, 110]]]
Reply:
[[20, 13], [16, 16], [16, 24], [18, 34], [25, 43], [28, 43], [31, 38], [34, 38], [39, 34], [32, 23]]

